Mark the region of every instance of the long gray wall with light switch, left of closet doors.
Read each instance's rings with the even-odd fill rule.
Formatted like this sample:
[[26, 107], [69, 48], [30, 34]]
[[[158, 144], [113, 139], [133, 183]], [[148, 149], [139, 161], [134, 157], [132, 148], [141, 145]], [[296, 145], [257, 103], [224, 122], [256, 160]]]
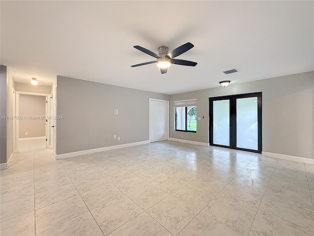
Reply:
[[149, 98], [170, 97], [57, 76], [56, 98], [63, 117], [56, 123], [56, 154], [63, 154], [149, 140]]

